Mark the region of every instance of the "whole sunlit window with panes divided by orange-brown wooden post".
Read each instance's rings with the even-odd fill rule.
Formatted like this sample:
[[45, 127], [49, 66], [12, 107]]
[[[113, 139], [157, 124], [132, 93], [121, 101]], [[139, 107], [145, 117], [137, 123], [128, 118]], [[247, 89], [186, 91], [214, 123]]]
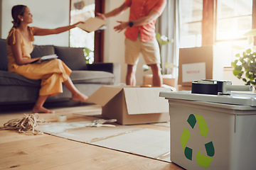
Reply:
[[181, 0], [180, 47], [217, 45], [228, 51], [224, 67], [230, 67], [235, 46], [247, 45], [243, 35], [252, 30], [255, 0]]

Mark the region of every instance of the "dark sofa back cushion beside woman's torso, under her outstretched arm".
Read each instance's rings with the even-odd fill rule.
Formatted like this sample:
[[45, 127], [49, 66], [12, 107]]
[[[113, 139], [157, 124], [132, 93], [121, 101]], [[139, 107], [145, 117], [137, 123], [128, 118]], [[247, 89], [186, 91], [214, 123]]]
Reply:
[[45, 55], [54, 55], [53, 45], [35, 45], [31, 57], [43, 57]]

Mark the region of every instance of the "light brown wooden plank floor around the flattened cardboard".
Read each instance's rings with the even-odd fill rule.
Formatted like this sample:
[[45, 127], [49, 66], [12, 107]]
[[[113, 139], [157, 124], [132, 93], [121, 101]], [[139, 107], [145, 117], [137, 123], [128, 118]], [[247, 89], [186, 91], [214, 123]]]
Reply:
[[[77, 119], [75, 113], [97, 113], [100, 106], [73, 106], [55, 108], [53, 114], [40, 114], [46, 121], [56, 121], [57, 115], [67, 115], [68, 120]], [[31, 111], [1, 111], [0, 126], [8, 120], [22, 118]], [[169, 130], [157, 125], [141, 125], [143, 128]], [[173, 163], [139, 157], [134, 154], [87, 145], [52, 135], [23, 135], [16, 131], [0, 130], [0, 169], [60, 169], [60, 170], [122, 170], [122, 169], [182, 169]]]

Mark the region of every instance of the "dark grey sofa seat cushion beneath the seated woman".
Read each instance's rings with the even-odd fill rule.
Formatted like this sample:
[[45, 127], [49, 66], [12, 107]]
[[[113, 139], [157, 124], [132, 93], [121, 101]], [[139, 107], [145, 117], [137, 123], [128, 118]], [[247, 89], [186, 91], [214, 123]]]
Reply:
[[41, 80], [27, 79], [13, 72], [0, 71], [0, 86], [41, 86]]

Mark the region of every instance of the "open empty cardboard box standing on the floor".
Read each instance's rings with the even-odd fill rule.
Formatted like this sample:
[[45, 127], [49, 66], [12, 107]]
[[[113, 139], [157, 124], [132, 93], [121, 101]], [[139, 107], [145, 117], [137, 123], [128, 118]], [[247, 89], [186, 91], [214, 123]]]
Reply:
[[159, 123], [169, 121], [169, 105], [159, 97], [160, 91], [170, 89], [157, 87], [102, 86], [88, 102], [102, 106], [102, 115], [117, 119], [122, 125]]

